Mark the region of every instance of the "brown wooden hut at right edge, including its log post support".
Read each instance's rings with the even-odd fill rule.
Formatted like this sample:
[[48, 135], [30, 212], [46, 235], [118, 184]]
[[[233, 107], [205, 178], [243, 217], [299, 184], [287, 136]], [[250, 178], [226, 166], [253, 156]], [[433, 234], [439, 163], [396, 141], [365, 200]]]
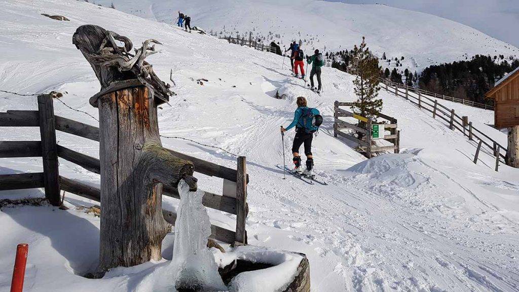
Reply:
[[507, 164], [519, 168], [519, 67], [501, 78], [485, 97], [495, 101], [495, 127], [508, 128]]

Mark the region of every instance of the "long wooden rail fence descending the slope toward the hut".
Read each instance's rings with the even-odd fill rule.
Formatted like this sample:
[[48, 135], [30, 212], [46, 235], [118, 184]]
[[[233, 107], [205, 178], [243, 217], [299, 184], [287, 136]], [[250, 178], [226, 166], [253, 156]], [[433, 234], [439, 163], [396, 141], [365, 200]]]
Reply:
[[441, 118], [447, 123], [451, 130], [461, 131], [464, 136], [469, 138], [469, 140], [479, 140], [474, 163], [477, 163], [477, 156], [479, 155], [482, 145], [488, 147], [494, 156], [496, 156], [496, 171], [499, 169], [500, 158], [503, 158], [504, 162], [507, 148], [503, 147], [496, 140], [488, 137], [482, 131], [474, 127], [467, 116], [459, 116], [456, 114], [454, 109], [445, 107], [445, 105], [438, 102], [438, 99], [432, 99], [427, 95], [422, 94], [422, 91], [412, 91], [407, 87], [402, 87], [401, 84], [399, 85], [392, 82], [384, 82], [383, 88], [396, 96], [405, 98], [409, 102], [417, 105], [419, 109], [430, 112], [433, 118]]

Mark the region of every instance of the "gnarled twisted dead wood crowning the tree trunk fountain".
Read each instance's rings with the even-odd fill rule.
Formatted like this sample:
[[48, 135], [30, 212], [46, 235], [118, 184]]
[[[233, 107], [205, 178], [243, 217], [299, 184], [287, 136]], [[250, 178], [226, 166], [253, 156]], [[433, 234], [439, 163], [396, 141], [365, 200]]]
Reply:
[[[122, 46], [117, 42], [121, 42]], [[151, 97], [157, 99], [157, 105], [168, 102], [169, 97], [175, 95], [169, 89], [170, 85], [162, 82], [153, 71], [152, 65], [145, 61], [146, 57], [157, 52], [155, 45], [150, 46], [160, 44], [155, 39], [148, 39], [141, 48], [135, 49], [135, 54], [131, 54], [133, 44], [129, 38], [107, 31], [101, 26], [87, 24], [77, 28], [72, 43], [92, 66], [101, 83], [101, 91], [116, 87], [119, 82], [137, 79], [140, 84], [148, 87]], [[91, 104], [97, 107], [97, 100], [91, 100]]]

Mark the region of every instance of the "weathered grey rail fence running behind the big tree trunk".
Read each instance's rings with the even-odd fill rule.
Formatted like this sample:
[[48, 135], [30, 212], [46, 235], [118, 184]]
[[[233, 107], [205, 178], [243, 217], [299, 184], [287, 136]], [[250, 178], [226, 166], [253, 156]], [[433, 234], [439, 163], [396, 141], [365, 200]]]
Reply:
[[[56, 142], [56, 130], [99, 142], [98, 127], [54, 115], [53, 100], [50, 95], [38, 96], [37, 111], [0, 113], [0, 127], [39, 127], [40, 141], [0, 141], [0, 158], [42, 157], [44, 168], [43, 172], [0, 175], [0, 191], [44, 188], [46, 198], [54, 206], [60, 205], [60, 191], [74, 193], [100, 202], [100, 189], [59, 175], [58, 157], [96, 174], [101, 174], [100, 161], [65, 148]], [[193, 162], [195, 172], [224, 180], [224, 195], [204, 191], [202, 203], [208, 208], [236, 215], [236, 232], [211, 225], [211, 237], [229, 244], [247, 244], [245, 217], [248, 213], [247, 183], [249, 177], [245, 157], [238, 157], [237, 169], [232, 169], [173, 150], [168, 151], [179, 158]], [[180, 199], [176, 188], [163, 186], [162, 194]], [[176, 214], [174, 212], [162, 210], [162, 213], [166, 221], [172, 225], [175, 224]]]

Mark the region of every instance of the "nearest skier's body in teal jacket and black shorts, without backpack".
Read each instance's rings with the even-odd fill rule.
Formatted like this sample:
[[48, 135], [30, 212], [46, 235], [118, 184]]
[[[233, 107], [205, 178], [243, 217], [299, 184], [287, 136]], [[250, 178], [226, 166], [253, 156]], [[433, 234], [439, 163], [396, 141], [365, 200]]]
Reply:
[[294, 155], [294, 172], [301, 173], [301, 156], [299, 155], [299, 148], [301, 145], [305, 145], [305, 155], [306, 155], [306, 169], [303, 171], [303, 175], [305, 176], [313, 176], [312, 168], [313, 168], [313, 156], [312, 156], [312, 138], [313, 134], [307, 133], [304, 125], [302, 124], [301, 117], [303, 115], [303, 110], [307, 108], [306, 98], [300, 96], [297, 98], [297, 109], [294, 113], [294, 121], [286, 127], [281, 127], [281, 132], [285, 132], [290, 130], [291, 128], [296, 128], [296, 134], [294, 138], [294, 143], [292, 144], [292, 154]]

